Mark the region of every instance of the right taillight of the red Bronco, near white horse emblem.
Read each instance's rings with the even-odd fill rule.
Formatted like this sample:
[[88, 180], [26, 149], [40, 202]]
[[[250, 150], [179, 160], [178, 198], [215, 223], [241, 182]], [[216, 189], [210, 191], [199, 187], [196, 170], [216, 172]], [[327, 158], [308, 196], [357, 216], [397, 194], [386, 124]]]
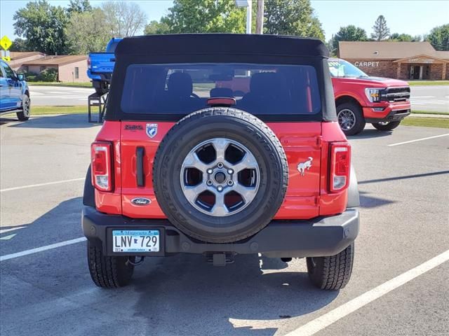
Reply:
[[347, 142], [330, 144], [330, 193], [337, 193], [349, 186], [351, 171], [351, 146]]

